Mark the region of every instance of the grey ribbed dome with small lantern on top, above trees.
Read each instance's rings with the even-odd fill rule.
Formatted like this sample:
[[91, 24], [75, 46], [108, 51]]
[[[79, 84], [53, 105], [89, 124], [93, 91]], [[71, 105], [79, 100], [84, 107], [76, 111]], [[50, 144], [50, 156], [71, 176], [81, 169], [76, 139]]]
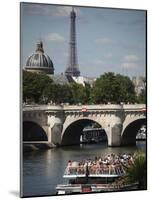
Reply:
[[37, 73], [44, 72], [46, 74], [54, 74], [53, 63], [50, 57], [44, 53], [42, 41], [37, 43], [35, 53], [27, 59], [25, 70]]

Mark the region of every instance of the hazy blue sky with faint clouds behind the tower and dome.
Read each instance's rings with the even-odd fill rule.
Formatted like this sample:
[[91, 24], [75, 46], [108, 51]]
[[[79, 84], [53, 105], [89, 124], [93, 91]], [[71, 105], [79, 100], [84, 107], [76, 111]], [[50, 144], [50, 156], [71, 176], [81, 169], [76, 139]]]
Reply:
[[[70, 6], [22, 4], [21, 58], [25, 66], [42, 40], [55, 74], [64, 72], [69, 57]], [[113, 71], [144, 76], [145, 11], [75, 7], [77, 55], [81, 75], [98, 77]]]

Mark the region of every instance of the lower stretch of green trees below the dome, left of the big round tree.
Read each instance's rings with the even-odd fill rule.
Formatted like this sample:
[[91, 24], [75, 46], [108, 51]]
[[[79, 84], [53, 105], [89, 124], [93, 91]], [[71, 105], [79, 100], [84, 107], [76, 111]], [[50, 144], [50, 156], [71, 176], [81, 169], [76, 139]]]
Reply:
[[85, 104], [89, 94], [89, 87], [81, 84], [59, 85], [46, 74], [23, 71], [23, 100], [25, 102]]

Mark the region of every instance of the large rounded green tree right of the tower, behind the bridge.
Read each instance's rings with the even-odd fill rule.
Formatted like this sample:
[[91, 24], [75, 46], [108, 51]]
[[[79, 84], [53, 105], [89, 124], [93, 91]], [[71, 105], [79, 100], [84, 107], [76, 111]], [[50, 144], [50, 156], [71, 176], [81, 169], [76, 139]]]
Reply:
[[94, 103], [134, 103], [136, 100], [134, 85], [126, 76], [115, 75], [112, 72], [105, 73], [95, 81], [91, 99]]

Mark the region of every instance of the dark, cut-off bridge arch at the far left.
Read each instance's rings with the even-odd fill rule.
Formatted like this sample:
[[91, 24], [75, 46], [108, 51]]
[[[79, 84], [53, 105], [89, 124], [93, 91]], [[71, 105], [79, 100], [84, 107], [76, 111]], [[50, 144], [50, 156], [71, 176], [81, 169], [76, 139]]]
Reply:
[[48, 141], [46, 131], [34, 121], [23, 122], [23, 141]]

